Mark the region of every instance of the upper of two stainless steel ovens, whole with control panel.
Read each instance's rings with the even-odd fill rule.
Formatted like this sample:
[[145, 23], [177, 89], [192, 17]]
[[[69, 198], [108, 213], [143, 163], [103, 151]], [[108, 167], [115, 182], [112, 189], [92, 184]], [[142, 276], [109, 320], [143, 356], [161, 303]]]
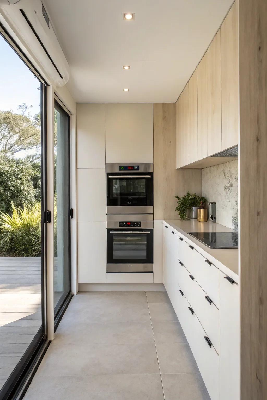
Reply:
[[107, 214], [153, 214], [153, 164], [106, 164]]

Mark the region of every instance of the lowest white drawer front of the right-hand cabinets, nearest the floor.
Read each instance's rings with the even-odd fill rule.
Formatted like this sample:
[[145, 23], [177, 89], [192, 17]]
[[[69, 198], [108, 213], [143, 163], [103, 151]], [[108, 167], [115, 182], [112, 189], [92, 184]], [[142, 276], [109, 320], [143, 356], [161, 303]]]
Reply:
[[[183, 291], [183, 288], [179, 287]], [[179, 293], [180, 294], [180, 293]], [[213, 346], [209, 346], [204, 329], [202, 328], [196, 314], [191, 314], [189, 310], [190, 304], [185, 296], [178, 298], [178, 318], [180, 320], [185, 336], [202, 378], [205, 382], [211, 400], [219, 399], [219, 356]]]

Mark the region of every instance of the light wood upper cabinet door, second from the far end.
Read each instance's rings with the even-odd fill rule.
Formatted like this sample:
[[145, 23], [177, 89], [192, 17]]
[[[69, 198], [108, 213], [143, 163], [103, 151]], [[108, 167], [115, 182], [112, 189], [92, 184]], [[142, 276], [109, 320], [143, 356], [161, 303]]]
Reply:
[[188, 82], [189, 163], [197, 161], [197, 70]]

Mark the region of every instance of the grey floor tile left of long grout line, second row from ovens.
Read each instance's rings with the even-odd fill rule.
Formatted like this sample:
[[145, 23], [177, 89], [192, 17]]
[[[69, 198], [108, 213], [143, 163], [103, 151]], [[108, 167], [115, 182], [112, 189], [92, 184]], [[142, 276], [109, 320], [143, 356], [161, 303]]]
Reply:
[[147, 303], [70, 303], [64, 320], [77, 322], [149, 322]]

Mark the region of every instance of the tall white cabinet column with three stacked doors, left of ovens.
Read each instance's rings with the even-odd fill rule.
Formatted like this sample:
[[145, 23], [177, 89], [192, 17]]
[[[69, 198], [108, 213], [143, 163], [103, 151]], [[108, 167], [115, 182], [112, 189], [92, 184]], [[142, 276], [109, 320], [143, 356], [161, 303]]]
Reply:
[[78, 283], [106, 283], [105, 104], [77, 104], [76, 120]]

